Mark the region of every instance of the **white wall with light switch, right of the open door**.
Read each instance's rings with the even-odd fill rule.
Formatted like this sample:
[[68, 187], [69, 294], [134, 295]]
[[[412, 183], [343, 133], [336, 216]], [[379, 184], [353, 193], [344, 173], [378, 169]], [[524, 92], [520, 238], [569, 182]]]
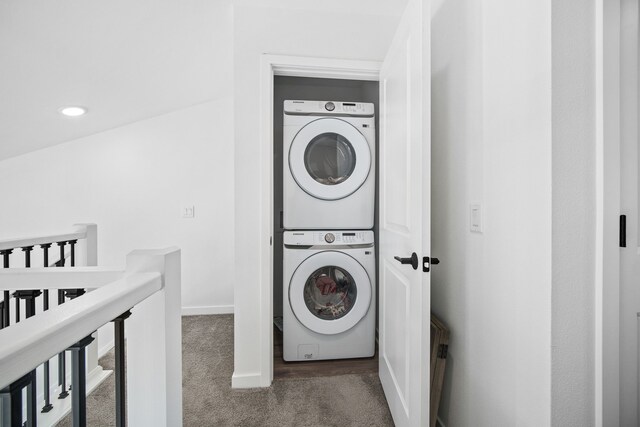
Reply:
[[432, 309], [451, 329], [440, 418], [549, 425], [551, 3], [432, 7]]

